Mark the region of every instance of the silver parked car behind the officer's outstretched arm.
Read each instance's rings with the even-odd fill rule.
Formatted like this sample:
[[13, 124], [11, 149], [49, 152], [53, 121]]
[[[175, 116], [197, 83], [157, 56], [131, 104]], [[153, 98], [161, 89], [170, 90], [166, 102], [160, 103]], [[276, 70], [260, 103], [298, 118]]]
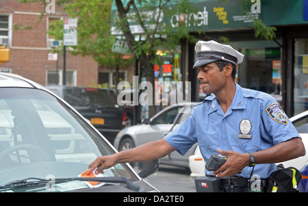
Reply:
[[[142, 124], [122, 129], [114, 140], [114, 146], [118, 151], [123, 151], [146, 142], [164, 138], [164, 136], [177, 127], [180, 121], [188, 115], [196, 104], [196, 102], [192, 102], [170, 105], [149, 120], [143, 120]], [[159, 159], [159, 164], [189, 168], [188, 157], [195, 153], [197, 145], [194, 144], [184, 156], [174, 151], [170, 155]]]

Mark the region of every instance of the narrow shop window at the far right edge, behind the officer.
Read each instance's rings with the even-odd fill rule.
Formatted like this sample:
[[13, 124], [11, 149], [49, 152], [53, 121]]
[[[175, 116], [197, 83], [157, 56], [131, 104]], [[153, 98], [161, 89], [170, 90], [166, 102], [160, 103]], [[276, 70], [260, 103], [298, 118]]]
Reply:
[[308, 110], [308, 39], [294, 40], [294, 115]]

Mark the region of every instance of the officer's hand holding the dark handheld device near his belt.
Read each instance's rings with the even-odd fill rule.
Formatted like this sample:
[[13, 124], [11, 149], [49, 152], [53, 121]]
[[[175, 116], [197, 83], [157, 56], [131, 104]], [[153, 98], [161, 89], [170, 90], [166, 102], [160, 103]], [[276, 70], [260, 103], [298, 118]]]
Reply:
[[222, 151], [220, 149], [218, 149], [218, 153], [228, 157], [227, 161], [218, 170], [213, 172], [213, 175], [219, 175], [218, 177], [231, 177], [232, 175], [236, 175], [247, 166], [247, 161], [249, 162], [247, 153], [241, 154], [234, 151]]

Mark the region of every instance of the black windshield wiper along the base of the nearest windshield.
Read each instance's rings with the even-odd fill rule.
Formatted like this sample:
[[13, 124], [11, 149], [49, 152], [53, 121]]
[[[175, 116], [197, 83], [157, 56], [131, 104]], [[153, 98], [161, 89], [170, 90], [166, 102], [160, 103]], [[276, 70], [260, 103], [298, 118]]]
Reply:
[[[35, 180], [35, 181], [29, 181], [29, 180]], [[50, 179], [42, 179], [38, 177], [28, 177], [26, 179], [20, 179], [11, 181], [9, 183], [6, 183], [5, 185], [0, 185], [0, 191], [1, 190], [8, 190], [13, 188], [19, 188], [19, 187], [25, 187], [29, 185], [42, 185], [45, 183], [49, 183]], [[129, 181], [126, 177], [70, 177], [70, 178], [55, 178], [52, 180], [54, 183], [64, 183], [68, 181], [95, 181], [95, 182], [101, 182], [101, 183], [125, 183], [127, 185], [127, 188], [130, 190], [139, 191], [139, 185], [136, 185]]]

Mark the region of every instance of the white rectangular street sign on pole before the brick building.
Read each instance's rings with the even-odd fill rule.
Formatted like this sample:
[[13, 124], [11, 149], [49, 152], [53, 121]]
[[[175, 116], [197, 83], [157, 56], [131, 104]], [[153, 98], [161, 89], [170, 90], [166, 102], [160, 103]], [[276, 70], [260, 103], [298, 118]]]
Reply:
[[64, 18], [63, 23], [63, 45], [77, 46], [77, 18]]

